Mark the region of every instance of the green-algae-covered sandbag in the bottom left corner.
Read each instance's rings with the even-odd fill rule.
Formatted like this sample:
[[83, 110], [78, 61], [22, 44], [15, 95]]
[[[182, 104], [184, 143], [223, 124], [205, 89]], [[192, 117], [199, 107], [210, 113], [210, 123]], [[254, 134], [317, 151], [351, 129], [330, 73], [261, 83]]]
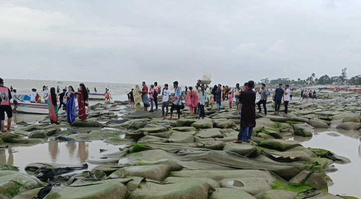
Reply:
[[0, 171], [0, 198], [12, 198], [21, 192], [43, 186], [34, 176], [17, 171]]

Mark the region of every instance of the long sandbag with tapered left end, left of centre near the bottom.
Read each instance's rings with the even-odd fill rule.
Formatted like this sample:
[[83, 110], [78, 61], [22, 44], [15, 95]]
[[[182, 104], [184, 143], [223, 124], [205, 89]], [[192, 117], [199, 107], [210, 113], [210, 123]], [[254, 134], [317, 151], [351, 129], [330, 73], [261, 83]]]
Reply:
[[124, 178], [128, 176], [136, 176], [150, 178], [157, 181], [163, 181], [168, 177], [172, 167], [168, 165], [146, 165], [146, 166], [129, 166], [118, 169], [109, 177]]

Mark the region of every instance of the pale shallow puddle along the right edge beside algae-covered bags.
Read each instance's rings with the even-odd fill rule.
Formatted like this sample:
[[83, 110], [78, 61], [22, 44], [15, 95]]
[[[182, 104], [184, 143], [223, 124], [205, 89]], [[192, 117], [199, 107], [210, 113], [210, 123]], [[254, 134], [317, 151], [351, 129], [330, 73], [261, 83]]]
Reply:
[[[361, 132], [316, 129], [312, 139], [294, 140], [301, 142], [304, 147], [322, 148], [330, 150], [337, 155], [347, 157], [350, 164], [333, 164], [339, 171], [328, 173], [334, 185], [329, 187], [331, 194], [361, 197]], [[330, 136], [330, 133], [332, 136]], [[338, 136], [335, 136], [337, 134]]]

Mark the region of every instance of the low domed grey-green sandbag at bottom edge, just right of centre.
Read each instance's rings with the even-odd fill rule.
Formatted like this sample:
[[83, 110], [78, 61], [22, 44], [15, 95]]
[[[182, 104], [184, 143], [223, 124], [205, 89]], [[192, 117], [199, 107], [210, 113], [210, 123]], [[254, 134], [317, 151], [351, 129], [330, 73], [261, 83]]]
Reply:
[[216, 189], [209, 199], [255, 199], [253, 196], [237, 189], [219, 188]]

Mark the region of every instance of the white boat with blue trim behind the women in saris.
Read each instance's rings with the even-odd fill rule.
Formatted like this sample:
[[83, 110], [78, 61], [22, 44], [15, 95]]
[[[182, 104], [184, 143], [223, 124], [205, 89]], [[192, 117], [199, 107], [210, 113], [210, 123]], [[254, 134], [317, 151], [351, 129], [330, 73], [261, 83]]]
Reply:
[[[12, 108], [14, 108], [14, 103], [10, 102]], [[46, 103], [30, 103], [30, 102], [17, 102], [17, 112], [20, 113], [31, 113], [31, 114], [49, 114], [48, 104]], [[65, 110], [60, 108], [58, 113], [62, 113]]]

